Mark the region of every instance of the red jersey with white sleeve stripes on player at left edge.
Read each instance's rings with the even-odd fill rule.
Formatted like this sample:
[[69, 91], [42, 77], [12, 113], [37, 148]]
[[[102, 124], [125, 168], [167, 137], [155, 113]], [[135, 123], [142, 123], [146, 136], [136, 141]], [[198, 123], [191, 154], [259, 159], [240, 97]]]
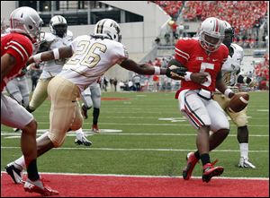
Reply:
[[4, 76], [1, 82], [1, 91], [4, 89], [7, 82], [21, 73], [21, 70], [26, 65], [28, 58], [32, 55], [32, 43], [26, 36], [18, 33], [10, 33], [1, 37], [1, 57], [5, 54], [14, 56], [16, 64], [10, 73]]

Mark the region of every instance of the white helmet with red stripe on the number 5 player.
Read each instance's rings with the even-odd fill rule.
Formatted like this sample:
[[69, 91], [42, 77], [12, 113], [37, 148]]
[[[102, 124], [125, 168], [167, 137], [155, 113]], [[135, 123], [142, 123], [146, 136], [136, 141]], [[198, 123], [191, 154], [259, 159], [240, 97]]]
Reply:
[[215, 17], [209, 17], [202, 22], [199, 33], [201, 46], [209, 51], [216, 51], [224, 39], [224, 23]]

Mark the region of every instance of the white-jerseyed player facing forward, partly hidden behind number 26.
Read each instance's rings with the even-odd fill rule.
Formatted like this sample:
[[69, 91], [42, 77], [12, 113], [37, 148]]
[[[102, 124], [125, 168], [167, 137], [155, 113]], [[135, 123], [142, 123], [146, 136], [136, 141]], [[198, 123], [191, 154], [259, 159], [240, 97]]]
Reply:
[[[49, 33], [45, 34], [45, 39], [40, 44], [40, 52], [53, 50], [58, 47], [65, 47], [73, 40], [73, 34], [67, 30], [67, 20], [61, 15], [53, 16], [49, 21]], [[40, 80], [34, 90], [29, 106], [26, 108], [29, 112], [35, 111], [48, 98], [48, 84], [50, 80], [61, 72], [67, 58], [58, 60], [49, 60], [44, 63]], [[76, 138], [86, 146], [90, 146], [92, 142], [87, 140], [83, 131], [76, 131]]]

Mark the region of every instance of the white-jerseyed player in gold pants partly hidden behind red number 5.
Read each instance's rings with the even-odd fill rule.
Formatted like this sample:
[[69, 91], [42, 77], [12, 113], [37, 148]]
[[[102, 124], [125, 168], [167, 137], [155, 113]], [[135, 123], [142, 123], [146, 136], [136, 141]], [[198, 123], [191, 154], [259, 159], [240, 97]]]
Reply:
[[[245, 83], [250, 87], [255, 85], [255, 81], [240, 73], [240, 65], [243, 60], [244, 50], [242, 47], [232, 43], [234, 38], [234, 30], [229, 24], [225, 22], [225, 38], [223, 43], [229, 49], [229, 56], [227, 61], [222, 65], [222, 78], [227, 86], [238, 92], [237, 83]], [[248, 129], [247, 129], [247, 108], [244, 108], [238, 113], [233, 113], [228, 110], [229, 98], [225, 97], [220, 92], [214, 94], [214, 99], [219, 102], [220, 107], [225, 110], [232, 122], [238, 126], [238, 142], [240, 148], [240, 159], [238, 163], [239, 168], [256, 168], [250, 161], [248, 161]]]

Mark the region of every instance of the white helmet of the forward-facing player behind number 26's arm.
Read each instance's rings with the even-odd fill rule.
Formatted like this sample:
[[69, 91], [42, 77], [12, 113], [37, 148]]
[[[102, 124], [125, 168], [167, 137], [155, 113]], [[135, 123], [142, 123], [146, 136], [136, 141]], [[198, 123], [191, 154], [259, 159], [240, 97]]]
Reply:
[[61, 15], [55, 15], [49, 21], [49, 30], [60, 38], [65, 37], [67, 35], [67, 20]]

